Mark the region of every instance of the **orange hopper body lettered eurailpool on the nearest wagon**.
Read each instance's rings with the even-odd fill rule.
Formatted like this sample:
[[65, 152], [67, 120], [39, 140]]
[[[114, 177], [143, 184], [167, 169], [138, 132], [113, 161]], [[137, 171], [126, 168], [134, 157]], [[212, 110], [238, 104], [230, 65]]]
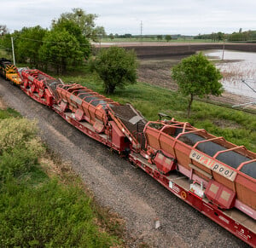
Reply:
[[190, 179], [197, 176], [196, 181], [207, 189], [207, 199], [212, 203], [230, 209], [236, 199], [241, 203], [241, 211], [253, 212], [256, 219], [255, 153], [174, 119], [166, 123], [148, 122], [144, 134], [153, 163], [157, 161], [155, 164], [165, 169], [162, 173], [171, 170], [159, 163], [159, 154], [176, 159], [177, 170]]

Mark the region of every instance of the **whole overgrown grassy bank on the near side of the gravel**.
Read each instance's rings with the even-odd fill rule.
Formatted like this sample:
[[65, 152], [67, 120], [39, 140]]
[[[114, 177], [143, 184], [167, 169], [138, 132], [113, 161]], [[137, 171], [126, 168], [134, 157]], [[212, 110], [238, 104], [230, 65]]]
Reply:
[[0, 246], [122, 244], [118, 223], [84, 193], [78, 176], [53, 158], [36, 136], [35, 123], [0, 109]]

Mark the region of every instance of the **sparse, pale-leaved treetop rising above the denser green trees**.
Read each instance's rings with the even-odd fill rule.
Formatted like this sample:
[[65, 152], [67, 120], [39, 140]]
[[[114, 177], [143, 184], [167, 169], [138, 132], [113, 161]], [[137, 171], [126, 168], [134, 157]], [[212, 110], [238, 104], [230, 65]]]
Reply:
[[96, 26], [96, 14], [86, 14], [83, 9], [72, 9], [73, 12], [61, 14], [61, 19], [73, 20], [81, 28], [82, 34], [87, 39], [97, 41], [99, 36], [106, 35], [103, 26]]

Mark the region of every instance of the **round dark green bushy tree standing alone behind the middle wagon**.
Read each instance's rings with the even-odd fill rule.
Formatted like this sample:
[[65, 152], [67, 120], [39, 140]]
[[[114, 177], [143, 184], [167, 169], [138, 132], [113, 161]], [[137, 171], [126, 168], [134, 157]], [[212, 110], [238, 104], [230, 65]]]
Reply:
[[135, 84], [137, 79], [137, 56], [133, 50], [111, 47], [101, 49], [96, 57], [95, 69], [103, 80], [107, 94], [116, 87], [124, 88], [126, 84]]

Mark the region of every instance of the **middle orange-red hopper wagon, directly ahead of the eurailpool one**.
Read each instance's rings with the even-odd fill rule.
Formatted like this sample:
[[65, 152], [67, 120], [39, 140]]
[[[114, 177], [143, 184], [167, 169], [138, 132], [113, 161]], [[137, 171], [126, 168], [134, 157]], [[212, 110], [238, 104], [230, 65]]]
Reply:
[[[56, 95], [58, 106], [55, 106], [55, 111], [63, 118], [72, 122], [86, 135], [92, 136], [119, 153], [130, 151], [131, 140], [136, 140], [133, 130], [136, 130], [137, 126], [130, 123], [129, 127], [125, 128], [123, 123], [129, 122], [131, 118], [138, 119], [137, 117], [139, 122], [143, 120], [140, 113], [131, 105], [120, 105], [79, 84], [58, 85]], [[113, 109], [116, 109], [119, 115], [114, 114]], [[126, 119], [127, 113], [129, 119]]]

